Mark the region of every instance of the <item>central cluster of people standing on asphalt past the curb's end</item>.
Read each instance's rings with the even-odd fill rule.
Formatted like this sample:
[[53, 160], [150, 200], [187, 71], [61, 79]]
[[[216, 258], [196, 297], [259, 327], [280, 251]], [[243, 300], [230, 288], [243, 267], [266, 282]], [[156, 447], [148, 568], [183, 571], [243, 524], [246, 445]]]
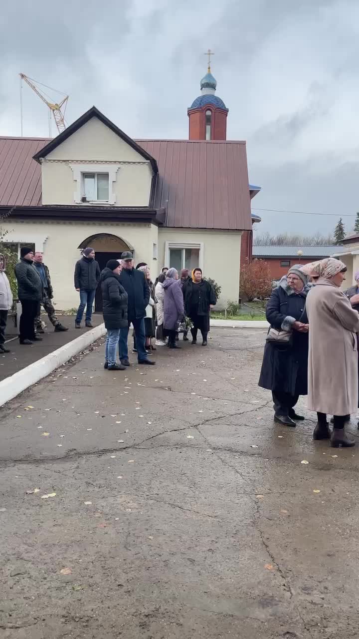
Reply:
[[[124, 252], [121, 259], [107, 262], [100, 273], [100, 284], [107, 328], [106, 369], [124, 370], [130, 366], [127, 344], [130, 325], [134, 328], [134, 352], [139, 364], [155, 364], [148, 356], [156, 346], [167, 344], [169, 348], [181, 348], [177, 344], [179, 325], [187, 326], [186, 315], [192, 325], [192, 344], [197, 343], [197, 331], [201, 330], [202, 345], [207, 346], [210, 309], [216, 297], [200, 268], [195, 268], [191, 276], [184, 269], [179, 278], [176, 268], [164, 267], [153, 283], [148, 265], [139, 263], [134, 267], [132, 254]], [[188, 341], [187, 332], [188, 329], [183, 328], [185, 341]], [[157, 337], [155, 346], [153, 337]], [[117, 346], [119, 364], [116, 363]]]

